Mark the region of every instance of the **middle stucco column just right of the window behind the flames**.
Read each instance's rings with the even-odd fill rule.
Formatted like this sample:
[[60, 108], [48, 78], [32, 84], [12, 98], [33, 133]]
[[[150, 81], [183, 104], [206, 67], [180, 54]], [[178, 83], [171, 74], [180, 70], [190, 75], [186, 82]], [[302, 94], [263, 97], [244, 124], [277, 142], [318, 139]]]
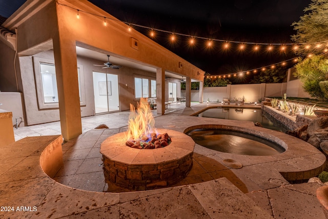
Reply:
[[156, 111], [157, 114], [165, 113], [165, 70], [156, 69]]

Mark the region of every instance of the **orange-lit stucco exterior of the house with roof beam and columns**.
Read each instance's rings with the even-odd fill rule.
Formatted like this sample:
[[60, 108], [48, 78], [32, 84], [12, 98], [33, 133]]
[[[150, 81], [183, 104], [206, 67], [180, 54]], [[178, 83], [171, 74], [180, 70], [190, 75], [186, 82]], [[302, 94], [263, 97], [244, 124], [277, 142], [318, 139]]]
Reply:
[[[77, 9], [80, 18], [76, 17]], [[87, 13], [86, 13], [87, 12]], [[97, 16], [96, 16], [97, 15]], [[107, 26], [104, 26], [106, 17]], [[185, 76], [187, 88], [191, 79], [203, 81], [204, 72], [181, 57], [153, 42], [148, 37], [117, 21], [107, 12], [88, 1], [76, 0], [29, 0], [20, 7], [3, 26], [17, 32], [17, 54], [19, 65], [19, 91], [24, 95], [26, 125], [57, 121], [60, 119], [61, 133], [65, 140], [81, 134], [81, 116], [92, 115], [92, 85], [90, 75], [94, 63], [103, 62], [77, 56], [76, 46], [109, 54], [130, 62], [155, 69], [153, 72], [140, 71], [123, 66], [115, 74], [119, 76], [120, 109], [127, 110], [135, 103], [135, 74], [156, 78], [157, 113], [165, 113], [167, 97], [166, 72]], [[137, 44], [136, 44], [137, 43]], [[136, 46], [137, 45], [137, 46]], [[7, 48], [8, 49], [8, 48]], [[14, 52], [9, 52], [14, 54]], [[59, 110], [40, 109], [33, 58], [53, 59], [56, 66], [56, 80]], [[18, 61], [17, 61], [18, 62]], [[86, 103], [79, 102], [77, 67], [83, 65], [85, 76]], [[8, 69], [12, 72], [12, 69]], [[18, 77], [19, 77], [18, 76]], [[187, 106], [190, 106], [190, 92]]]

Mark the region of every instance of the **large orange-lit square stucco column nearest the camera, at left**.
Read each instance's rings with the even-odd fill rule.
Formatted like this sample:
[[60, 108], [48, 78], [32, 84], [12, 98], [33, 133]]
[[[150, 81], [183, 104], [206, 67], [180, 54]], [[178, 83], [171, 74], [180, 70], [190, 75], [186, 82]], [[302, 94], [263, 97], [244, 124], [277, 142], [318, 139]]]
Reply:
[[61, 134], [69, 141], [82, 133], [75, 41], [70, 34], [53, 38]]

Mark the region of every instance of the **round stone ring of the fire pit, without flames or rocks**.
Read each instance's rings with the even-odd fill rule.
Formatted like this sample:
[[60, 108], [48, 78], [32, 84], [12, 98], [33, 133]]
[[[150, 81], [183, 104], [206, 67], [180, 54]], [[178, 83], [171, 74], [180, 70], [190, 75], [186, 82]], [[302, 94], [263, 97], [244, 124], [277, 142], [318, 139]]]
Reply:
[[170, 145], [156, 149], [126, 146], [127, 132], [108, 137], [100, 146], [106, 183], [132, 190], [167, 187], [185, 178], [193, 165], [195, 143], [191, 137], [173, 130]]

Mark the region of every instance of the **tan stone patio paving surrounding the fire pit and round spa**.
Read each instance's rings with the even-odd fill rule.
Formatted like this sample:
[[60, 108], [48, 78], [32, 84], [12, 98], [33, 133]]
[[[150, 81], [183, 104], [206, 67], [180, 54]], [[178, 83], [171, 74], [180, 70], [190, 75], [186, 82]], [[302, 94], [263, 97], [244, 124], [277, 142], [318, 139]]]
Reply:
[[[158, 116], [155, 118], [156, 127], [158, 125], [183, 132], [193, 124], [224, 123], [243, 128], [252, 127], [264, 134], [276, 133], [254, 127], [248, 122], [186, 116], [202, 107], [197, 105]], [[127, 116], [125, 113], [122, 115]], [[108, 115], [107, 118], [111, 116], [114, 115]], [[108, 136], [126, 130], [125, 127], [110, 128], [92, 130], [92, 133], [81, 135], [79, 139], [89, 140], [92, 142], [90, 146], [81, 143], [79, 147], [82, 148], [74, 149], [74, 142], [64, 144], [64, 164], [72, 169], [62, 168], [55, 178], [66, 185], [75, 184], [80, 187], [90, 177], [91, 181], [95, 179], [90, 182], [98, 187], [98, 191], [101, 188], [106, 190], [105, 183], [101, 182], [101, 171], [96, 171], [98, 167], [86, 168], [88, 171], [80, 168], [83, 164], [87, 166], [86, 160], [89, 159], [88, 164], [96, 164], [93, 161], [97, 161], [96, 149], [99, 149], [100, 143]], [[283, 133], [276, 135], [284, 141], [296, 141]], [[308, 146], [297, 150], [299, 142], [291, 143], [292, 147], [282, 154], [266, 157], [226, 154], [196, 145], [195, 168], [185, 178], [185, 185], [180, 182], [171, 188], [103, 193], [59, 184], [40, 170], [35, 157], [39, 157], [43, 148], [54, 139], [53, 136], [31, 137], [14, 143], [14, 146], [0, 148], [0, 165], [5, 167], [0, 171], [0, 198], [3, 205], [37, 207], [36, 212], [0, 212], [0, 218], [325, 218], [315, 197], [315, 190], [320, 187], [318, 183], [289, 184], [279, 174], [279, 171], [292, 171], [297, 176], [297, 171], [306, 171], [306, 168], [310, 171], [312, 165], [321, 165], [320, 152]], [[224, 158], [234, 158], [244, 167], [229, 169], [221, 163]], [[13, 170], [19, 170], [14, 168], [25, 168], [28, 177], [15, 174]], [[315, 172], [310, 171], [311, 174]], [[78, 176], [82, 175], [84, 177], [78, 180]]]

